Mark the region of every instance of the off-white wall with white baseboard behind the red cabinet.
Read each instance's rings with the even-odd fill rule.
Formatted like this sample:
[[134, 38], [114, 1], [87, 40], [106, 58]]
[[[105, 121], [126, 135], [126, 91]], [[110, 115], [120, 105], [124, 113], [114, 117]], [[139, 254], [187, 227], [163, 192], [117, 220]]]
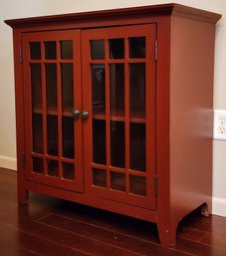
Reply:
[[[16, 169], [16, 133], [11, 28], [5, 19], [170, 3], [171, 0], [1, 0], [0, 8], [0, 166]], [[221, 13], [215, 51], [214, 109], [226, 110], [226, 1], [175, 0]], [[226, 141], [214, 141], [213, 212], [226, 216]], [[205, 178], [205, 177], [203, 177]]]

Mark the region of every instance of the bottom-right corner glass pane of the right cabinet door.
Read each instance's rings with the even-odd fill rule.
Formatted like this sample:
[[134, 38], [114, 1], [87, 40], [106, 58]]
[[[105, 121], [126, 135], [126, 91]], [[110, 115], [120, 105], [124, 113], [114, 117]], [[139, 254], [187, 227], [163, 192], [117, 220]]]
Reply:
[[129, 175], [130, 193], [146, 195], [146, 178], [141, 176]]

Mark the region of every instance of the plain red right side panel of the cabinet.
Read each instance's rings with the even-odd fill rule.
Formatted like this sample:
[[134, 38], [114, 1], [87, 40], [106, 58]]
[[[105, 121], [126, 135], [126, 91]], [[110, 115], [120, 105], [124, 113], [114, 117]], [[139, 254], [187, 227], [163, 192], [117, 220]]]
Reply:
[[178, 221], [202, 203], [211, 207], [215, 25], [172, 17], [171, 28], [170, 200]]

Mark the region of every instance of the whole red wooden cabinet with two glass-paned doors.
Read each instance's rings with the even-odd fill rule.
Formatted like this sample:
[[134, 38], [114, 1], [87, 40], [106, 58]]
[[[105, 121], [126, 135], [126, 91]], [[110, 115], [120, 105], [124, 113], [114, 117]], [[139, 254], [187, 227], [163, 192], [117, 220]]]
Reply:
[[167, 246], [211, 212], [220, 17], [164, 4], [5, 21], [19, 203], [31, 190], [151, 221]]

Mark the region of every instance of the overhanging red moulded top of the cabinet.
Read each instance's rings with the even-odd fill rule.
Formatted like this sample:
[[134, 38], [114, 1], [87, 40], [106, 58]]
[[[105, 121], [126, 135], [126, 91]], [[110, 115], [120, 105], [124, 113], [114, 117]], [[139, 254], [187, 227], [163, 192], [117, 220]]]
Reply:
[[31, 26], [53, 25], [60, 23], [79, 23], [81, 21], [104, 21], [110, 19], [129, 19], [156, 16], [179, 16], [216, 23], [221, 15], [201, 9], [188, 7], [180, 4], [161, 4], [120, 9], [110, 9], [92, 12], [70, 13], [51, 16], [40, 16], [32, 18], [19, 18], [6, 20], [5, 23], [12, 28], [24, 28]]

